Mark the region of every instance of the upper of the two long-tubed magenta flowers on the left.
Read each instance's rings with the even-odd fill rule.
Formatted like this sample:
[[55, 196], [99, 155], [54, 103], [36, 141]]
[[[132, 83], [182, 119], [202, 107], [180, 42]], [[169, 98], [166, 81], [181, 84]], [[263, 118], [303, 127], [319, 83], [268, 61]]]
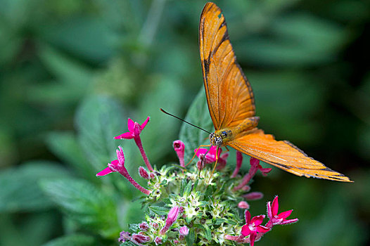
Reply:
[[153, 167], [151, 166], [151, 163], [149, 162], [148, 157], [146, 156], [146, 153], [143, 149], [143, 144], [141, 143], [141, 138], [140, 138], [141, 131], [143, 131], [144, 127], [146, 127], [146, 124], [148, 124], [149, 119], [150, 117], [147, 117], [145, 122], [143, 122], [143, 124], [141, 125], [138, 122], [134, 122], [132, 119], [128, 119], [127, 128], [129, 129], [129, 131], [119, 136], [115, 136], [115, 139], [134, 138], [134, 141], [140, 150], [141, 156], [143, 157], [146, 167], [148, 168], [149, 171], [153, 171]]

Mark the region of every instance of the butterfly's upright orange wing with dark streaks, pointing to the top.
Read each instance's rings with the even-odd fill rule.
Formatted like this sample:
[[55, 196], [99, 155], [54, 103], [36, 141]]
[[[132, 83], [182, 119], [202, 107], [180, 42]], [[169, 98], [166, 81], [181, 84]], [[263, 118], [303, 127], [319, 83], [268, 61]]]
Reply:
[[236, 62], [224, 15], [205, 4], [199, 24], [200, 59], [208, 109], [215, 129], [235, 127], [255, 115], [255, 99], [248, 79]]

